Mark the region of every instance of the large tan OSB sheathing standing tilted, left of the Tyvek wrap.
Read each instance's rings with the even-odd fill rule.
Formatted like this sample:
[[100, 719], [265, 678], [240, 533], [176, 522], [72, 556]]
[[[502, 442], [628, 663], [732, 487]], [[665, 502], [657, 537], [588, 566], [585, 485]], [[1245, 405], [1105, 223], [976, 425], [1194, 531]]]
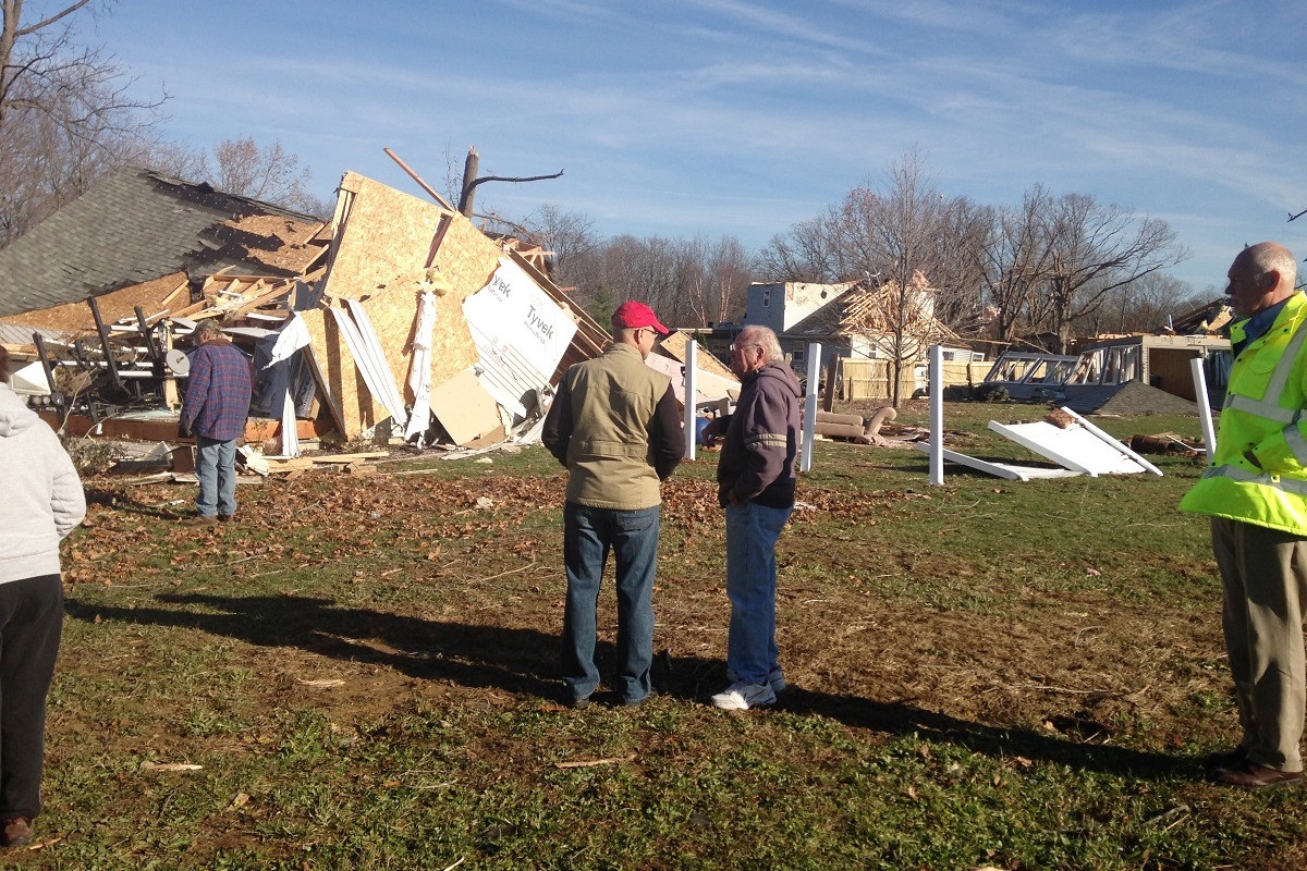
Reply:
[[434, 265], [451, 290], [437, 298], [431, 345], [431, 384], [442, 384], [477, 362], [476, 345], [463, 317], [463, 300], [485, 287], [502, 252], [460, 214], [412, 197], [356, 172], [346, 172], [341, 191], [352, 195], [345, 223], [337, 230], [327, 293], [363, 304], [396, 384], [408, 390], [413, 328], [426, 257], [443, 215], [450, 229]]

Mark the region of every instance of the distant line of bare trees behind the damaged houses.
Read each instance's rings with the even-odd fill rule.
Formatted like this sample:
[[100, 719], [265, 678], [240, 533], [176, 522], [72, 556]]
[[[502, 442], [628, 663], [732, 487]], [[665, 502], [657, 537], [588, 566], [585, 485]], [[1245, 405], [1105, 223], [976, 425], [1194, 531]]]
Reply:
[[[582, 214], [548, 205], [524, 225], [557, 256], [555, 277], [592, 313], [640, 298], [678, 325], [742, 313], [752, 281], [867, 281], [897, 293], [906, 313], [916, 272], [935, 290], [935, 313], [965, 337], [1043, 334], [1064, 350], [1085, 332], [1153, 330], [1196, 304], [1166, 274], [1188, 252], [1165, 221], [1053, 196], [1033, 185], [1018, 206], [946, 197], [912, 150], [881, 184], [857, 187], [814, 218], [749, 253], [735, 236], [599, 238]], [[890, 312], [889, 320], [902, 321]]]

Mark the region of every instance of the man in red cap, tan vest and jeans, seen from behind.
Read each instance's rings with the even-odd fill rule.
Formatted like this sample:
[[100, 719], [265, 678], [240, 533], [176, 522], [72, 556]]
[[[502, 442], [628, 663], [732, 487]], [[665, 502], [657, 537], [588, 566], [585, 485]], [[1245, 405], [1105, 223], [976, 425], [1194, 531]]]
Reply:
[[659, 484], [681, 461], [681, 414], [670, 380], [644, 364], [668, 328], [635, 300], [613, 312], [613, 343], [567, 370], [545, 417], [545, 447], [567, 467], [563, 507], [562, 676], [567, 703], [586, 708], [599, 686], [596, 610], [604, 563], [617, 560], [617, 675], [623, 705], [652, 689], [654, 569]]

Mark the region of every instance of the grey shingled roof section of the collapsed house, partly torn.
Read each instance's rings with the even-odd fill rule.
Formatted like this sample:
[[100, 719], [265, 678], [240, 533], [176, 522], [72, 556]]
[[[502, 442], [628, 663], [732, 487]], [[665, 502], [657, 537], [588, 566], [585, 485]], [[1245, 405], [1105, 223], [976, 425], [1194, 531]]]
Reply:
[[[251, 230], [250, 215], [277, 218], [285, 231], [268, 230], [268, 221]], [[294, 276], [293, 265], [268, 253], [303, 244], [322, 225], [208, 184], [124, 167], [0, 248], [0, 316], [80, 302], [178, 270], [192, 279], [225, 266]]]

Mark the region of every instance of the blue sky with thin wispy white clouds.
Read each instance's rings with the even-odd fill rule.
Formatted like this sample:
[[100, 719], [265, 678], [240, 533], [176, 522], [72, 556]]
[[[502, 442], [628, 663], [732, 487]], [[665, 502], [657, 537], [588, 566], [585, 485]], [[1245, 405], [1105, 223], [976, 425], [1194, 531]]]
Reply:
[[476, 145], [566, 171], [484, 185], [507, 215], [757, 249], [915, 148], [949, 196], [1163, 218], [1205, 290], [1244, 243], [1307, 256], [1304, 31], [1303, 0], [118, 0], [82, 37], [171, 138], [280, 140], [328, 201], [346, 170], [425, 196], [383, 148], [443, 189]]

